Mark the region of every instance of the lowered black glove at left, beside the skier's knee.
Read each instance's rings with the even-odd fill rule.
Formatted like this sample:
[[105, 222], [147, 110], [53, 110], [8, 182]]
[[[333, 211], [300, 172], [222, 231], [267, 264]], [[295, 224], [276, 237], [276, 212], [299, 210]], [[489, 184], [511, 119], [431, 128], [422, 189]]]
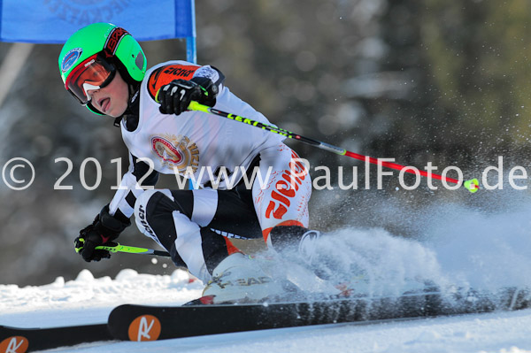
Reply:
[[116, 245], [112, 241], [118, 238], [119, 234], [130, 225], [129, 219], [126, 221], [112, 217], [107, 205], [96, 216], [91, 225], [81, 229], [80, 235], [73, 241], [75, 251], [80, 253], [83, 260], [87, 262], [109, 258], [111, 257], [109, 251], [95, 249], [96, 246]]

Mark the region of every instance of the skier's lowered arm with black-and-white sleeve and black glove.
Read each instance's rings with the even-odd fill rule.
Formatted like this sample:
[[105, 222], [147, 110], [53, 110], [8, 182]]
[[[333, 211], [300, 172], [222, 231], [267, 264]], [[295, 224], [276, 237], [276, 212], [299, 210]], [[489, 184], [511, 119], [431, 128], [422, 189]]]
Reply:
[[129, 170], [122, 177], [120, 188], [111, 203], [104, 206], [92, 224], [81, 229], [74, 241], [75, 250], [87, 262], [111, 257], [109, 251], [95, 248], [112, 242], [131, 225], [129, 218], [135, 211], [136, 198], [143, 192], [137, 181], [145, 177], [143, 186], [154, 186], [158, 181], [158, 172], [150, 170], [149, 165], [135, 156], [130, 156], [130, 162]]

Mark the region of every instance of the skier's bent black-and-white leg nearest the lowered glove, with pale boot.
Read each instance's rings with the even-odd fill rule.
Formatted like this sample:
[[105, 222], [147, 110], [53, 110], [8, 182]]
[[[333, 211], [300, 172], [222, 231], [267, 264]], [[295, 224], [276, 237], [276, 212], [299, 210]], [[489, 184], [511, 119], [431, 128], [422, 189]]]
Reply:
[[[219, 203], [227, 206], [221, 200], [233, 198], [223, 193], [230, 191], [146, 191], [135, 205], [136, 225], [170, 252], [175, 265], [188, 267], [208, 283], [204, 295], [215, 296], [214, 303], [258, 301], [281, 293], [280, 286], [255, 261], [212, 230], [212, 225], [225, 223], [215, 220], [222, 213]], [[235, 210], [237, 206], [235, 203]], [[242, 229], [250, 229], [242, 219], [239, 222]], [[234, 231], [241, 233], [237, 228]]]

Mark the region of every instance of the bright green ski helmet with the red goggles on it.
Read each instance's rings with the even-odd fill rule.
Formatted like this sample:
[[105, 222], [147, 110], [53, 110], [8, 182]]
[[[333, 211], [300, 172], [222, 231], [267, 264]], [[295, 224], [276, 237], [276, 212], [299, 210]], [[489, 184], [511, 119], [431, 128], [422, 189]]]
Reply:
[[138, 84], [146, 73], [147, 60], [132, 35], [111, 23], [94, 23], [74, 33], [58, 59], [65, 88], [90, 111], [103, 115], [90, 104], [86, 90], [104, 88], [119, 71], [129, 85]]

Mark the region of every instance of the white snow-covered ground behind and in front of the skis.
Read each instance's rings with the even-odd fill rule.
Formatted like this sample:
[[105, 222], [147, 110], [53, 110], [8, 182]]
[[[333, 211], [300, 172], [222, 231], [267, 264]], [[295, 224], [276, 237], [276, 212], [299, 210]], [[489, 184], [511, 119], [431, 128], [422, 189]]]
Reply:
[[[197, 281], [123, 270], [116, 279], [81, 272], [48, 286], [0, 286], [0, 324], [62, 326], [104, 322], [119, 303], [184, 303], [201, 293]], [[208, 321], [208, 318], [197, 318]], [[422, 318], [373, 325], [337, 324], [218, 334], [153, 342], [95, 342], [57, 352], [531, 352], [531, 310]]]

